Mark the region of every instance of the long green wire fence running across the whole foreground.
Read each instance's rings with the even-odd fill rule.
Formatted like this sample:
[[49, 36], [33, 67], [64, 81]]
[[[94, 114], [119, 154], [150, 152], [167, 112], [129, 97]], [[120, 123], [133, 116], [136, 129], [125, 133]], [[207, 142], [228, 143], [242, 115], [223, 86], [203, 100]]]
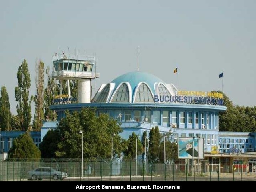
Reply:
[[255, 173], [220, 173], [218, 167], [136, 160], [7, 159], [0, 181], [256, 181]]

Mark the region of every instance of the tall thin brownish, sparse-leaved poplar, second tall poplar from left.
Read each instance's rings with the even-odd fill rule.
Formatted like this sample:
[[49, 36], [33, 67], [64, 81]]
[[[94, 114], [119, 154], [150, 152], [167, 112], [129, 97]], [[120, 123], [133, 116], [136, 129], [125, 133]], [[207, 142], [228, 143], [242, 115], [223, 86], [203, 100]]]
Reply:
[[44, 63], [41, 60], [36, 61], [35, 72], [36, 95], [34, 96], [35, 114], [33, 124], [35, 130], [39, 131], [44, 119]]

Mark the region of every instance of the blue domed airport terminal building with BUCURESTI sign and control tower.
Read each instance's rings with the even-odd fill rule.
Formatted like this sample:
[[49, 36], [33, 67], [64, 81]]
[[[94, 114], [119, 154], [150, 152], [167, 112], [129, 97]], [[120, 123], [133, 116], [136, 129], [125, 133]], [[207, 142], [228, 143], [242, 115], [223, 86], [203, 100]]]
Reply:
[[[68, 94], [57, 96], [50, 106], [58, 114], [79, 111], [82, 107], [96, 107], [97, 114], [108, 113], [121, 122], [121, 137], [128, 139], [132, 132], [142, 138], [158, 126], [162, 134], [173, 133], [178, 138], [203, 138], [204, 159], [200, 161], [204, 172], [255, 172], [255, 134], [248, 132], [219, 132], [219, 113], [224, 112], [222, 94], [208, 91], [181, 91], [170, 82], [164, 82], [153, 74], [133, 71], [102, 84], [94, 98], [91, 80], [99, 78], [96, 58], [87, 56], [54, 55], [54, 79], [67, 80]], [[69, 80], [78, 80], [78, 98], [71, 98]], [[49, 129], [57, 127], [57, 121], [44, 122], [42, 141]], [[8, 150], [8, 137], [1, 134], [1, 149]], [[13, 139], [13, 138], [12, 138]], [[217, 149], [213, 151], [213, 149]], [[214, 152], [214, 153], [213, 153]], [[196, 162], [196, 159], [195, 159]], [[184, 163], [180, 159], [180, 164]]]

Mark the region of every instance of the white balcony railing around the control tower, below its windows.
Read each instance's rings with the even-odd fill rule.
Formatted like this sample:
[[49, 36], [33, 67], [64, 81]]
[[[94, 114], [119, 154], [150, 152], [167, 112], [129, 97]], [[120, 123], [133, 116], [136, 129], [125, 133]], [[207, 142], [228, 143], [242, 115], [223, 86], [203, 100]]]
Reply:
[[100, 73], [82, 72], [82, 71], [53, 71], [52, 77], [65, 76], [65, 77], [78, 77], [78, 78], [99, 78]]

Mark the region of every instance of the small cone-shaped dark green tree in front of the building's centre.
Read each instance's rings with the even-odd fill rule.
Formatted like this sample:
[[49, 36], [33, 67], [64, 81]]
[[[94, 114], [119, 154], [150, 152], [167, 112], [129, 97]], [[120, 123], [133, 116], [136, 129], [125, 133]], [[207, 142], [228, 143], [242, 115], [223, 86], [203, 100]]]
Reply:
[[124, 152], [127, 158], [136, 158], [136, 138], [137, 138], [137, 155], [143, 152], [142, 143], [140, 142], [138, 135], [132, 132], [127, 141], [127, 149]]

